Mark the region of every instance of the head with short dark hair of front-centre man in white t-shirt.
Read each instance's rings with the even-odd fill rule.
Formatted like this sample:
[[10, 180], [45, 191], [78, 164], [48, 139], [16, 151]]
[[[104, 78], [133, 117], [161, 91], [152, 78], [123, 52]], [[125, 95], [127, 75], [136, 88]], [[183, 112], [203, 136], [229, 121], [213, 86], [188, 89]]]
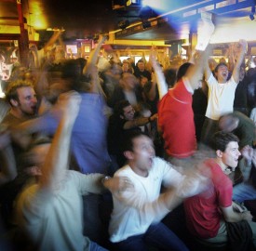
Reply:
[[124, 155], [135, 173], [147, 177], [153, 166], [155, 148], [152, 139], [141, 131], [128, 133], [124, 143]]

